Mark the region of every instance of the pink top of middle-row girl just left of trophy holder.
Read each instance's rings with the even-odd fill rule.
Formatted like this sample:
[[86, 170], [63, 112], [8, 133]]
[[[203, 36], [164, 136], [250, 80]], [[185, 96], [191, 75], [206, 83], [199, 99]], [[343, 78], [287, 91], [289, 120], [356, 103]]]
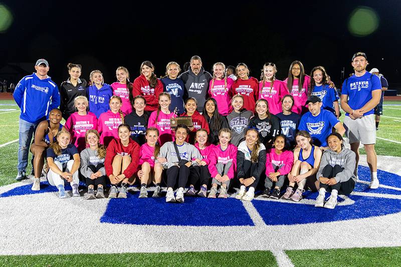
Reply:
[[147, 123], [147, 128], [154, 127], [159, 130], [159, 143], [162, 146], [165, 142], [173, 141], [173, 132], [170, 128], [170, 118], [176, 117], [173, 112], [170, 114], [165, 114], [161, 110], [159, 111], [159, 116], [157, 118], [157, 110], [153, 111], [149, 116], [149, 121]]

